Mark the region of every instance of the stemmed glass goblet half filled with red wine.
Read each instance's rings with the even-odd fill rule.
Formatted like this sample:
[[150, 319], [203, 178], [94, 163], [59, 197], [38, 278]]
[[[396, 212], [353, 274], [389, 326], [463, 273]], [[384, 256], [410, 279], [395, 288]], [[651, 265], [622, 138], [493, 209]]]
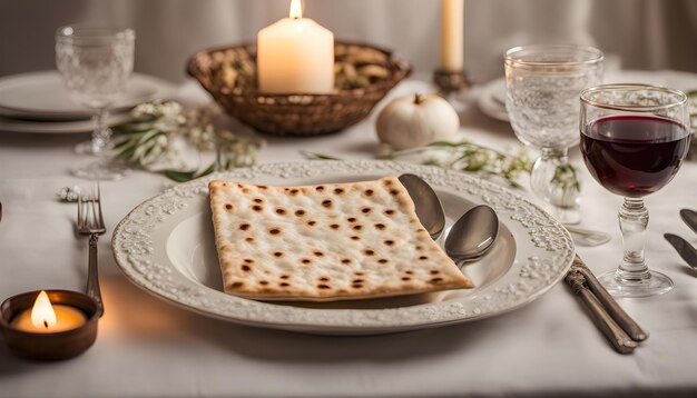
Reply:
[[644, 197], [665, 187], [689, 149], [687, 97], [645, 84], [605, 84], [581, 92], [581, 153], [592, 177], [625, 197], [619, 209], [625, 256], [598, 279], [616, 297], [647, 297], [673, 289], [648, 269], [644, 242], [649, 213]]

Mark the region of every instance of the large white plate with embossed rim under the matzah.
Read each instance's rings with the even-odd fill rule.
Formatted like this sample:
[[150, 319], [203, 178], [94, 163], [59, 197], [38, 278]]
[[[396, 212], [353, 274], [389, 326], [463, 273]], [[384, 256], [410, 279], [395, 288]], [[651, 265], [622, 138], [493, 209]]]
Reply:
[[[208, 181], [295, 186], [412, 172], [438, 192], [449, 222], [477, 203], [493, 207], [501, 232], [481, 261], [465, 267], [470, 290], [324, 304], [263, 302], [222, 291]], [[111, 241], [121, 271], [137, 286], [184, 308], [239, 324], [332, 335], [436, 327], [517, 309], [549, 290], [573, 258], [569, 233], [527, 199], [457, 171], [392, 161], [268, 163], [183, 183], [135, 208]]]

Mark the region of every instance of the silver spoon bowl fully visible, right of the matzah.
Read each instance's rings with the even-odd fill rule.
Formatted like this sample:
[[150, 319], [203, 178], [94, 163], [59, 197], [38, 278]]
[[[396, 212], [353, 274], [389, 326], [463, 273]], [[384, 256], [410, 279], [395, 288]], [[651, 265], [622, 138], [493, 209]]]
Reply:
[[499, 217], [489, 206], [480, 205], [452, 226], [445, 239], [445, 252], [462, 267], [484, 256], [498, 236]]

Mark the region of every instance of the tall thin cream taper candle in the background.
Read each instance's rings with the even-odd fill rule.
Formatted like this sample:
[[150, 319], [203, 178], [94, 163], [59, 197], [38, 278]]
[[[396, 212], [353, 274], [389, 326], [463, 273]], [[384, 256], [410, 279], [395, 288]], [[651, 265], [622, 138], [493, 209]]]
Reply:
[[463, 51], [464, 0], [441, 0], [441, 69], [462, 71]]

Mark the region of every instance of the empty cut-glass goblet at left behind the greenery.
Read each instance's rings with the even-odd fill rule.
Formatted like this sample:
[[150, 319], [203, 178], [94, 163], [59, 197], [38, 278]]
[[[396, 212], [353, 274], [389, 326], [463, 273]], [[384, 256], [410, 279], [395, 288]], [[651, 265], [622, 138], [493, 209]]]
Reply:
[[[112, 148], [108, 109], [132, 72], [135, 38], [131, 29], [68, 26], [56, 32], [56, 64], [63, 82], [79, 103], [95, 111], [92, 139], [78, 145], [79, 153], [106, 156]], [[71, 171], [81, 178], [118, 179], [128, 167], [102, 158]]]

